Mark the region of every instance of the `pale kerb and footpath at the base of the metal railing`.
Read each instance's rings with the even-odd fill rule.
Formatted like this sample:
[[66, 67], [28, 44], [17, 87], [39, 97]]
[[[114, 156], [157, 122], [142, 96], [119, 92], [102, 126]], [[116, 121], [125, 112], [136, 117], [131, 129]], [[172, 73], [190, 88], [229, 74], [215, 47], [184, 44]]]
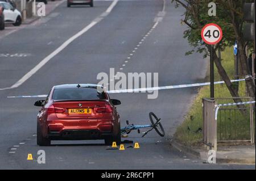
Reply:
[[[171, 145], [173, 148], [200, 158], [202, 161], [207, 162], [208, 160], [209, 155], [206, 148], [185, 146], [175, 140], [171, 141]], [[255, 145], [218, 146], [216, 163], [255, 165]]]

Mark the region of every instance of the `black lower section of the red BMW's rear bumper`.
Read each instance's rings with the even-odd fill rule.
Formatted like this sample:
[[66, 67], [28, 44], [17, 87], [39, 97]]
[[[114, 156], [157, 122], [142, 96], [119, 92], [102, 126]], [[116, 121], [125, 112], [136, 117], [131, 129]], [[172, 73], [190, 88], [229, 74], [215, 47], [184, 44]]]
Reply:
[[51, 140], [101, 140], [113, 136], [112, 132], [100, 132], [96, 129], [67, 129], [61, 132], [49, 132]]

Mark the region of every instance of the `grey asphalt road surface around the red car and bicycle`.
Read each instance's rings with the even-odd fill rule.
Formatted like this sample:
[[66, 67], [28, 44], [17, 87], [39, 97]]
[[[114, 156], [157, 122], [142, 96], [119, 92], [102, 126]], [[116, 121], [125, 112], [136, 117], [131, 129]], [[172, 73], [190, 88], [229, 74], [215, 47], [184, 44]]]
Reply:
[[[159, 73], [159, 86], [204, 80], [207, 61], [199, 53], [185, 56], [191, 47], [183, 39], [182, 8], [164, 0], [112, 3], [67, 8], [63, 2], [46, 17], [0, 37], [0, 169], [255, 169], [204, 164], [170, 146], [197, 94], [195, 88], [162, 90], [157, 99], [147, 99], [145, 93], [110, 95], [122, 102], [117, 107], [121, 126], [126, 120], [148, 124], [151, 111], [162, 118], [166, 137], [150, 132], [142, 138], [134, 132], [123, 138], [139, 142], [140, 149], [125, 144], [125, 150], [109, 150], [102, 140], [36, 145], [39, 108], [33, 104], [38, 99], [7, 96], [47, 94], [62, 83], [98, 83], [98, 73], [109, 73], [110, 68], [125, 74]], [[64, 44], [81, 30], [84, 33]], [[46, 152], [45, 164], [36, 162], [39, 150]]]

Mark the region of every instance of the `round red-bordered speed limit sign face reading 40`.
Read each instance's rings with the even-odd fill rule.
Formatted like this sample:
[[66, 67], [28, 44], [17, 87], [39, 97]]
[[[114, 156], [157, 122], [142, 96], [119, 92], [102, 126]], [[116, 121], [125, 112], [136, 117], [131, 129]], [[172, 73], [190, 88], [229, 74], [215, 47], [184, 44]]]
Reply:
[[222, 39], [222, 30], [217, 24], [210, 23], [204, 26], [201, 37], [206, 44], [215, 45]]

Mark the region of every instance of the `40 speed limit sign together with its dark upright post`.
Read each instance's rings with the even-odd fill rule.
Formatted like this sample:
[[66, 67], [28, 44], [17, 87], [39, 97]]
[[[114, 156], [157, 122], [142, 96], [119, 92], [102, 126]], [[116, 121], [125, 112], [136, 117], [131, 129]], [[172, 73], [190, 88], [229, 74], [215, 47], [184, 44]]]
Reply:
[[209, 23], [201, 31], [204, 43], [210, 45], [210, 98], [214, 99], [214, 45], [222, 39], [222, 30], [217, 24]]

